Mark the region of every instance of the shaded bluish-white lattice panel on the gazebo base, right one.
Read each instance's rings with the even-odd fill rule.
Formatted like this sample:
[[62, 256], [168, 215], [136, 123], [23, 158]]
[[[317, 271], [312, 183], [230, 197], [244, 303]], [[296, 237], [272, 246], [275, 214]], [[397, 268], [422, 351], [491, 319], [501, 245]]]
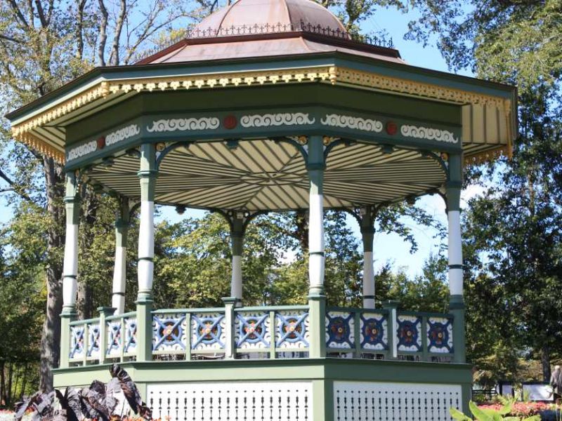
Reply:
[[462, 407], [459, 385], [334, 382], [334, 421], [445, 421]]

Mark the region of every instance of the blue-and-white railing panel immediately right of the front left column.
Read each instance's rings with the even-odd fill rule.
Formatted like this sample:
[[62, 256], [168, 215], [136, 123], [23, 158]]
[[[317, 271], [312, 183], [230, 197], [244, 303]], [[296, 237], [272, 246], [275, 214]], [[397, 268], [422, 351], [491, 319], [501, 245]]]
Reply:
[[152, 316], [152, 350], [185, 351], [185, 314], [155, 314]]

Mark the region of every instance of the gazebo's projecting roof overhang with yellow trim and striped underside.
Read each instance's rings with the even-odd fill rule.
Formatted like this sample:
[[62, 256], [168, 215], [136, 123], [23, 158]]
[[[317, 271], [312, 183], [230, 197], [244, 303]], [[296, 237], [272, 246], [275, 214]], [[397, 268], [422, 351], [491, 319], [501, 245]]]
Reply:
[[467, 161], [511, 154], [516, 89], [346, 53], [99, 67], [7, 115], [14, 138], [65, 162], [66, 127], [138, 93], [325, 83], [462, 107]]

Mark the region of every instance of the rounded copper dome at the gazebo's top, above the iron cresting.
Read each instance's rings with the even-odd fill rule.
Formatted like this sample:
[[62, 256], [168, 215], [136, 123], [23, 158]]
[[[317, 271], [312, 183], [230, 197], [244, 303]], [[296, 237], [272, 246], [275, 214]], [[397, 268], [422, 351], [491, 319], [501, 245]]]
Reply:
[[202, 20], [193, 33], [242, 35], [252, 29], [289, 32], [307, 27], [314, 28], [314, 32], [350, 38], [338, 18], [312, 0], [238, 0]]

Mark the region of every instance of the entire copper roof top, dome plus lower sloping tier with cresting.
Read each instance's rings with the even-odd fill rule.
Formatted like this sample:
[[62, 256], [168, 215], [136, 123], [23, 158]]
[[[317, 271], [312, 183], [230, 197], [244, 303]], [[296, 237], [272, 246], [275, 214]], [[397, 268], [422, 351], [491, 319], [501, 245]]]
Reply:
[[392, 62], [397, 50], [353, 41], [327, 8], [312, 0], [238, 0], [202, 20], [176, 44], [137, 64], [347, 53]]

